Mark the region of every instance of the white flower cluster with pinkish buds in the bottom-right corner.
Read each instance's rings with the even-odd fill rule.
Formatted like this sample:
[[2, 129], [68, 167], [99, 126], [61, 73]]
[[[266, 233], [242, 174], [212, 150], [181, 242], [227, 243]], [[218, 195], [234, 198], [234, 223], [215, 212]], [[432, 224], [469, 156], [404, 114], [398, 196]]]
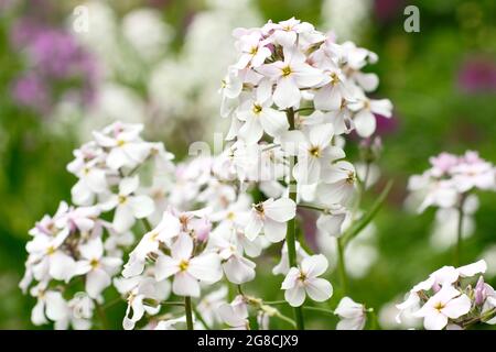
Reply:
[[461, 267], [443, 266], [429, 278], [417, 284], [407, 299], [397, 305], [403, 314], [423, 318], [428, 330], [466, 329], [477, 323], [496, 323], [496, 292], [479, 276], [475, 287], [474, 277], [485, 273], [486, 262], [478, 261]]

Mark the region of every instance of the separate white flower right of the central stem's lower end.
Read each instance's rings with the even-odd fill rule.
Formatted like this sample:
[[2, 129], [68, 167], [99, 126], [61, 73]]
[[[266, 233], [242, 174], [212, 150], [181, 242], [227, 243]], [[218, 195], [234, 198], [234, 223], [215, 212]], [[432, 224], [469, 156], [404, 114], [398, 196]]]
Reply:
[[324, 301], [333, 295], [333, 287], [319, 276], [327, 270], [324, 255], [312, 255], [301, 262], [300, 267], [291, 267], [281, 288], [285, 290], [284, 298], [292, 307], [299, 307], [305, 300], [305, 294], [313, 300]]

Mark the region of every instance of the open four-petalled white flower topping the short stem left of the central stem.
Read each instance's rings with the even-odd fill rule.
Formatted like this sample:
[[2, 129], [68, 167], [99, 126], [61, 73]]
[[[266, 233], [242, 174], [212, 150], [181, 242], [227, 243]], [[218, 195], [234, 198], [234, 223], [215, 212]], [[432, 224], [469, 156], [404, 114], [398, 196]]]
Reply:
[[193, 240], [181, 234], [171, 246], [171, 256], [162, 255], [155, 263], [155, 278], [162, 280], [174, 275], [172, 290], [179, 296], [200, 296], [198, 280], [213, 284], [222, 276], [220, 260], [215, 253], [193, 255]]

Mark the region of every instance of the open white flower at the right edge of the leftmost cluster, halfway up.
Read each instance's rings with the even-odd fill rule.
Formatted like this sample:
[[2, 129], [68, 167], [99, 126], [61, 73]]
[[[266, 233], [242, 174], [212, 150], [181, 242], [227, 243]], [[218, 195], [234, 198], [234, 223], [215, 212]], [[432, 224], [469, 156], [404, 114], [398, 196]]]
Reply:
[[143, 219], [154, 210], [153, 200], [148, 196], [136, 196], [140, 179], [138, 176], [122, 178], [119, 184], [119, 194], [109, 196], [101, 205], [104, 209], [116, 209], [114, 215], [114, 228], [118, 232], [129, 230], [136, 219]]

